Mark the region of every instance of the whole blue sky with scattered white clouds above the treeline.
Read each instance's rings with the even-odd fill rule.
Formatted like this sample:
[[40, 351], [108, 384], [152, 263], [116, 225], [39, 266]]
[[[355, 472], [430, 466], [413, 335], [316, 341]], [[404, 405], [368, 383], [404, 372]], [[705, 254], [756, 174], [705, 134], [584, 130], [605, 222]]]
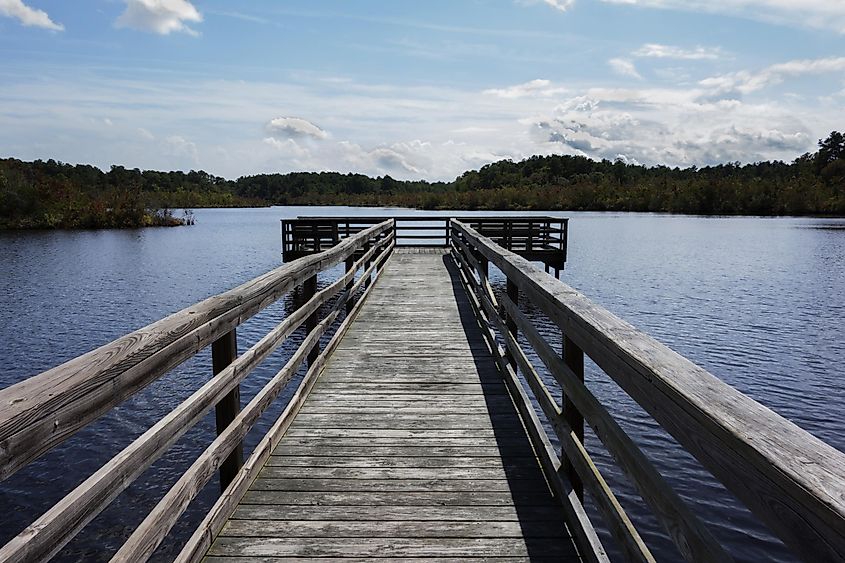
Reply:
[[845, 0], [0, 0], [0, 157], [23, 160], [791, 161], [843, 109]]

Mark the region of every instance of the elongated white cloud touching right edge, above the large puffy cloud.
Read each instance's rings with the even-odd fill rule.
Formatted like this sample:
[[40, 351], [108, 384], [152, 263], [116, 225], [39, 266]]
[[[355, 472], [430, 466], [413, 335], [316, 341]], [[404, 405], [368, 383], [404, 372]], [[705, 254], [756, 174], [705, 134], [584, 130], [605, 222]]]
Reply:
[[742, 70], [706, 78], [700, 84], [718, 95], [731, 92], [750, 94], [780, 84], [789, 77], [836, 72], [845, 72], [845, 57], [789, 61], [771, 65], [758, 72]]

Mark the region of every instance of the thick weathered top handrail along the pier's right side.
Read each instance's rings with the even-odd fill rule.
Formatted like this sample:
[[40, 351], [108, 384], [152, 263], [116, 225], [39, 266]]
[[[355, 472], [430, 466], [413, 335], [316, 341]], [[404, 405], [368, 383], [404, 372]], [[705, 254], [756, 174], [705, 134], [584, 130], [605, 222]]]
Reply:
[[[496, 265], [797, 556], [845, 559], [845, 454], [469, 226], [452, 227], [453, 240]], [[710, 559], [695, 544], [678, 547]]]

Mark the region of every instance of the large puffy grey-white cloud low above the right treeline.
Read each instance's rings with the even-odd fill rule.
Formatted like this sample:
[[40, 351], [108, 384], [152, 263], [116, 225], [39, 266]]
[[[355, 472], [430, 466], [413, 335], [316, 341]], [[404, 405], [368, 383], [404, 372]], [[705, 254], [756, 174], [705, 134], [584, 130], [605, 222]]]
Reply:
[[806, 128], [784, 112], [767, 117], [762, 109], [737, 101], [699, 103], [692, 94], [595, 90], [556, 107], [532, 124], [532, 133], [538, 143], [575, 154], [670, 166], [794, 158], [812, 144]]

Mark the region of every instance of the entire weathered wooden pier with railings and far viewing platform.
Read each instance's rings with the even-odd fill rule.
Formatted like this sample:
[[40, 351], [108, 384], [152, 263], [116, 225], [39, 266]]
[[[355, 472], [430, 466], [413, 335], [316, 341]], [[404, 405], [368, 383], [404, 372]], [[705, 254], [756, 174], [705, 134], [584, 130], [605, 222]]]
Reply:
[[[219, 474], [179, 563], [653, 562], [587, 427], [685, 560], [731, 561], [585, 383], [588, 358], [796, 557], [845, 561], [845, 454], [556, 279], [564, 220], [436, 217], [401, 235], [389, 218], [297, 221], [283, 230], [291, 262], [0, 390], [2, 487], [211, 348], [209, 379], [0, 548], [0, 561], [49, 560], [212, 409], [216, 437], [112, 561], [150, 558]], [[434, 242], [399, 244], [420, 236]], [[287, 295], [286, 316], [239, 353], [237, 328]], [[292, 342], [242, 404], [241, 382]]]

